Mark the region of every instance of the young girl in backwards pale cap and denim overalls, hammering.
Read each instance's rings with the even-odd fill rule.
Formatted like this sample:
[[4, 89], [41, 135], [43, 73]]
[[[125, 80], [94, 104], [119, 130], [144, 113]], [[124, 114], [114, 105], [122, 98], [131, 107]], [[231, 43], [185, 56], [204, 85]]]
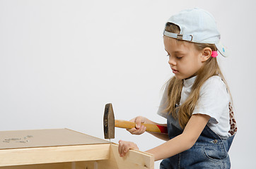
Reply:
[[[230, 168], [228, 150], [237, 130], [231, 95], [216, 60], [227, 56], [219, 42], [213, 16], [199, 8], [173, 15], [165, 25], [163, 42], [174, 77], [166, 84], [158, 114], [167, 118], [168, 135], [151, 133], [167, 142], [150, 149], [160, 168]], [[146, 131], [136, 117], [132, 134]], [[142, 123], [142, 124], [141, 124]], [[138, 149], [120, 140], [119, 153]]]

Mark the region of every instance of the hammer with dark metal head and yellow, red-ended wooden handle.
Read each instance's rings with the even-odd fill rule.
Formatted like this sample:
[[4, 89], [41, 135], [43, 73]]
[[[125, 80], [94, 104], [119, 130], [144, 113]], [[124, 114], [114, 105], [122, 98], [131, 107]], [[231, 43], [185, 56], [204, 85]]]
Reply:
[[[167, 127], [165, 126], [146, 124], [146, 123], [142, 123], [142, 124], [146, 127], [146, 131], [148, 132], [159, 132], [159, 133], [168, 134]], [[135, 127], [135, 123], [125, 121], [125, 120], [115, 120], [112, 104], [106, 104], [104, 116], [103, 116], [103, 126], [104, 126], [105, 139], [114, 139], [115, 127], [132, 129]]]

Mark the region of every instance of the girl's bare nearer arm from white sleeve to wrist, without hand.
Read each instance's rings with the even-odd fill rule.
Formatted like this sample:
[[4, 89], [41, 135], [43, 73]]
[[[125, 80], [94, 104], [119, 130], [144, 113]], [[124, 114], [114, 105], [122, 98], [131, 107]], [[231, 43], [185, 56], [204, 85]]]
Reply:
[[190, 149], [197, 142], [209, 119], [209, 115], [192, 115], [182, 134], [146, 152], [153, 154], [155, 161], [158, 161]]

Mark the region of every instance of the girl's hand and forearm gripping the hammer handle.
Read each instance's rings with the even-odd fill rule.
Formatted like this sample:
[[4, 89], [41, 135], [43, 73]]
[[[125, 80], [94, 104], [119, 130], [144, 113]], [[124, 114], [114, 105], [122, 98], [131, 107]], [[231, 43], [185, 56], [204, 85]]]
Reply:
[[[136, 123], [136, 128], [134, 127], [132, 129], [129, 129], [129, 130], [127, 129], [127, 131], [129, 131], [131, 134], [142, 134], [142, 133], [144, 133], [146, 131], [146, 127], [143, 125], [143, 123], [167, 126], [167, 124], [155, 123], [155, 122], [149, 120], [148, 118], [144, 118], [142, 116], [138, 116], [136, 118], [133, 118], [130, 121]], [[155, 137], [158, 137], [158, 139], [163, 139], [165, 141], [169, 140], [168, 134], [156, 133], [156, 132], [149, 132], [149, 133], [152, 134]]]

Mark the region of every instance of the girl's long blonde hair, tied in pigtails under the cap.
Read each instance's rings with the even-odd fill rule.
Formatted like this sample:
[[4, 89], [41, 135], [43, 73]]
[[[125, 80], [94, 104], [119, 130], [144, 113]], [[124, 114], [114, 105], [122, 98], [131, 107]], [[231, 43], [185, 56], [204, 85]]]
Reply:
[[[173, 23], [167, 23], [165, 25], [165, 30], [168, 32], [180, 33], [180, 27]], [[216, 51], [216, 46], [214, 44], [193, 44], [194, 47], [199, 51], [203, 50], [206, 47], [211, 48], [212, 51]], [[225, 78], [223, 77], [223, 74], [221, 73], [221, 69], [219, 68], [216, 58], [210, 57], [207, 61], [205, 61], [205, 64], [197, 72], [197, 78], [192, 85], [190, 95], [187, 97], [187, 100], [179, 107], [176, 107], [175, 105], [180, 104], [183, 80], [172, 77], [167, 82], [166, 87], [168, 87], [168, 103], [164, 111], [166, 113], [171, 113], [173, 115], [173, 118], [178, 119], [180, 127], [182, 127], [183, 129], [187, 125], [188, 120], [190, 120], [192, 112], [194, 111], [194, 107], [197, 105], [202, 85], [204, 84], [204, 82], [206, 82], [206, 80], [209, 79], [209, 77], [212, 77], [214, 75], [219, 75], [228, 89], [228, 85]]]

